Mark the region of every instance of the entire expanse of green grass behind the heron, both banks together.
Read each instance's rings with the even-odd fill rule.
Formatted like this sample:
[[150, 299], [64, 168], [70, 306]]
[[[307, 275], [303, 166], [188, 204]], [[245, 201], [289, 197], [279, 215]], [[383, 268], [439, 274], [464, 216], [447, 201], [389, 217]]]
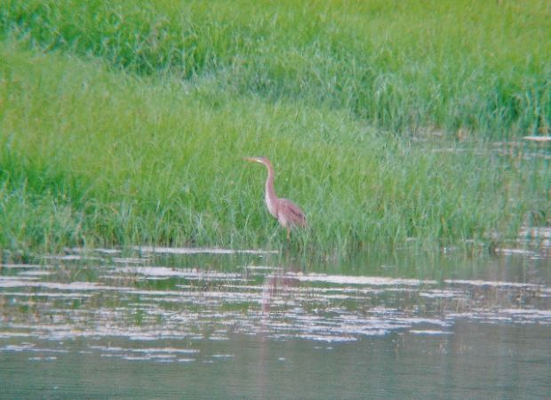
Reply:
[[281, 246], [242, 156], [323, 252], [545, 224], [545, 2], [345, 3], [8, 1], [0, 248]]

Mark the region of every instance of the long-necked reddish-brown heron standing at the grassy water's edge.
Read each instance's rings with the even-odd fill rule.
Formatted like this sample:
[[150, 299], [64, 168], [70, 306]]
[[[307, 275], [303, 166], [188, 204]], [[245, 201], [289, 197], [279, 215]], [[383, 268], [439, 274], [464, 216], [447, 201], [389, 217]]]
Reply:
[[268, 168], [268, 179], [266, 180], [266, 205], [268, 212], [272, 214], [279, 224], [287, 229], [287, 240], [291, 237], [291, 228], [307, 228], [306, 216], [297, 204], [286, 198], [275, 196], [274, 190], [274, 167], [267, 157], [244, 157], [244, 160], [252, 163], [264, 164]]

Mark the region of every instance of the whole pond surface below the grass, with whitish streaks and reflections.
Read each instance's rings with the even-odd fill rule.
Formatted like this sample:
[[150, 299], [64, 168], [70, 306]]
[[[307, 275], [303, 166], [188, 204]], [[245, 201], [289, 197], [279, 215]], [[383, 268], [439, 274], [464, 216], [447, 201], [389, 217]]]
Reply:
[[551, 396], [551, 260], [75, 249], [0, 267], [0, 398]]

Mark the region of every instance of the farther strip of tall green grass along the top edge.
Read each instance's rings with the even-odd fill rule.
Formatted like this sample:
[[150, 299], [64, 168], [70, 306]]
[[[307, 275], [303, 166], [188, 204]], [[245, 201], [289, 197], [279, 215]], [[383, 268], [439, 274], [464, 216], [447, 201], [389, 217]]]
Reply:
[[31, 47], [169, 73], [249, 100], [339, 108], [390, 132], [484, 137], [551, 124], [551, 11], [541, 0], [7, 0]]

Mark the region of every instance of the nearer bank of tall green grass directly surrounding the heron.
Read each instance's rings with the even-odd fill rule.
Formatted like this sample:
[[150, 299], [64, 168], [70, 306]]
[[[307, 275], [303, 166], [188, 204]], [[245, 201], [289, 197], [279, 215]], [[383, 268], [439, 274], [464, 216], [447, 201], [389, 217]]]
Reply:
[[[108, 65], [108, 64], [107, 64]], [[346, 108], [236, 96], [208, 77], [114, 71], [102, 58], [0, 44], [0, 246], [279, 246], [262, 201], [307, 212], [321, 250], [515, 236], [550, 215], [545, 157], [475, 139], [388, 135]]]

